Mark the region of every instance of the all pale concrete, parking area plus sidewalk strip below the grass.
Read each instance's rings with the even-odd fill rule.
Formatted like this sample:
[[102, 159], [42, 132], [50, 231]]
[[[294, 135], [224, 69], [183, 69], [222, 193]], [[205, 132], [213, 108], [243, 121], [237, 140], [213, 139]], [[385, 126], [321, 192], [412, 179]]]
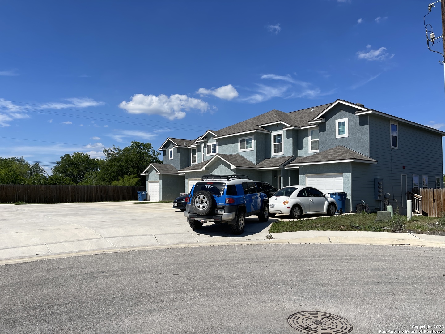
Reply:
[[374, 244], [445, 247], [445, 236], [391, 232], [302, 231], [274, 233], [247, 218], [241, 236], [219, 224], [193, 231], [171, 203], [131, 202], [0, 206], [0, 265], [137, 249], [222, 244]]

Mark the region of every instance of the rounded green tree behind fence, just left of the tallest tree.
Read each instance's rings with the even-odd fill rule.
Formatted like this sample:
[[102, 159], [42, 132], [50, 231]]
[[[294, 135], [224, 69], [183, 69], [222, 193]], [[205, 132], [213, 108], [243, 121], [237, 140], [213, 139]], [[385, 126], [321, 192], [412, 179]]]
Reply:
[[[57, 165], [53, 167], [52, 182], [57, 180], [64, 180], [68, 178], [72, 184], [81, 183], [85, 178], [85, 175], [89, 172], [98, 171], [101, 167], [101, 160], [90, 158], [87, 153], [74, 152], [73, 155], [65, 154], [60, 158], [60, 161], [56, 161]], [[65, 183], [60, 184], [67, 184]], [[53, 183], [54, 184], [54, 183]]]

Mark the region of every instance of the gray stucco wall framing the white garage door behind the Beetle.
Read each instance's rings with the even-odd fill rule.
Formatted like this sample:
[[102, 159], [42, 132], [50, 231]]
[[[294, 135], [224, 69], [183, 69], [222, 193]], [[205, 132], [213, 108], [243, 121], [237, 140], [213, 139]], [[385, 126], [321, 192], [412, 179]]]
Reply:
[[[354, 203], [354, 191], [352, 189], [351, 163], [324, 163], [317, 165], [303, 165], [299, 169], [300, 184], [306, 184], [306, 175], [312, 174], [343, 174], [343, 191], [348, 193], [346, 198], [346, 212], [351, 212], [351, 204]], [[355, 209], [353, 210], [355, 211]]]

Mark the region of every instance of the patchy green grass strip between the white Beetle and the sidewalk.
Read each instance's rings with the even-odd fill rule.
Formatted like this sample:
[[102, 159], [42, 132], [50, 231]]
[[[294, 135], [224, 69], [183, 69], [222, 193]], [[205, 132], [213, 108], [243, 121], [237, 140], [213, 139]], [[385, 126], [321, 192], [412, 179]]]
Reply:
[[295, 231], [373, 231], [435, 234], [445, 236], [445, 219], [394, 215], [392, 220], [374, 222], [376, 213], [355, 213], [352, 215], [321, 216], [316, 219], [279, 220], [271, 225], [270, 233]]

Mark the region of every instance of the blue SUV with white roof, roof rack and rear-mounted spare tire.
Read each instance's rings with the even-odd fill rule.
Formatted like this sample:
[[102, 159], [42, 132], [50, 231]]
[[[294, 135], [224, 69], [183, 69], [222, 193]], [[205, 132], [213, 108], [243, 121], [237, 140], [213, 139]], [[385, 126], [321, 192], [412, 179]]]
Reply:
[[231, 232], [241, 234], [246, 217], [269, 219], [269, 200], [245, 175], [204, 175], [190, 191], [184, 215], [193, 229], [207, 221], [227, 222]]

